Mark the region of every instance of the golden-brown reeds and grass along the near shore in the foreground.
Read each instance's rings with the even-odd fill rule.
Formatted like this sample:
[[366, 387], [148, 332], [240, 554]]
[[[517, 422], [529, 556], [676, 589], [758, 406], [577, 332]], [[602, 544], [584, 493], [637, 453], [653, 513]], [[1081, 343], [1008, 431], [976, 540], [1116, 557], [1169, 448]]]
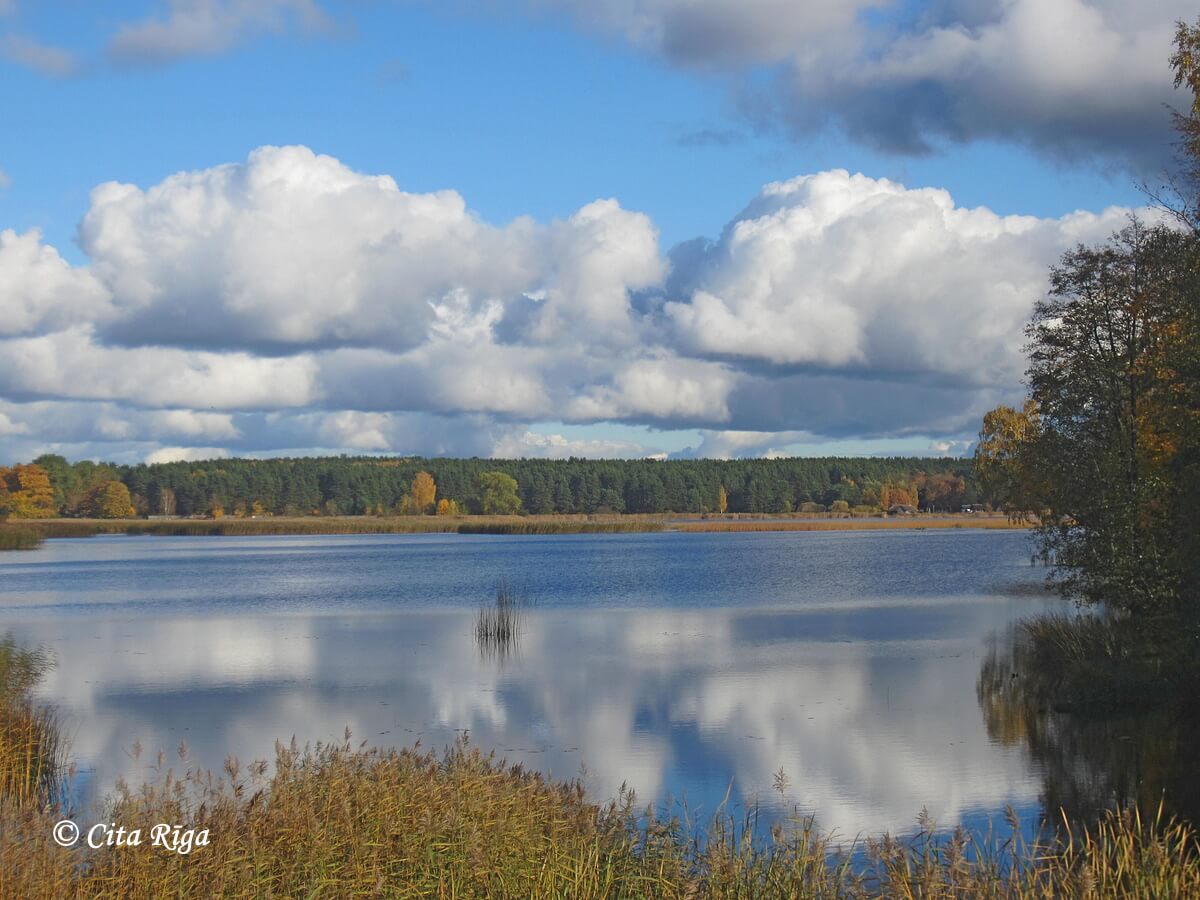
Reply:
[[[503, 600], [503, 604], [502, 604]], [[497, 608], [516, 601], [498, 598]], [[44, 656], [0, 643], [0, 896], [458, 898], [1174, 898], [1200, 892], [1187, 826], [1110, 814], [1085, 830], [1026, 841], [1009, 811], [996, 833], [940, 832], [846, 844], [812, 820], [761, 834], [754, 811], [707, 828], [642, 810], [623, 791], [592, 803], [466, 740], [444, 752], [344, 742], [277, 744], [274, 766], [191, 764], [118, 786], [77, 811], [86, 832], [140, 829], [138, 846], [61, 847], [65, 752], [30, 702]], [[179, 838], [154, 846], [157, 823]], [[1048, 832], [1049, 834], [1050, 832]], [[168, 841], [169, 842], [169, 841]]]

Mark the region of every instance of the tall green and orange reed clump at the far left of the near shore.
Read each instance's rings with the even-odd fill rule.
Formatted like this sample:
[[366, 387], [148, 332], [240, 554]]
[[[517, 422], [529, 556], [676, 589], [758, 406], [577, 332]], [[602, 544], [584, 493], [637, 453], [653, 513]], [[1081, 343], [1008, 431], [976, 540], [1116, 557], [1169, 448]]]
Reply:
[[36, 704], [34, 685], [50, 667], [41, 650], [0, 640], [0, 806], [44, 809], [64, 797], [67, 746], [54, 709]]

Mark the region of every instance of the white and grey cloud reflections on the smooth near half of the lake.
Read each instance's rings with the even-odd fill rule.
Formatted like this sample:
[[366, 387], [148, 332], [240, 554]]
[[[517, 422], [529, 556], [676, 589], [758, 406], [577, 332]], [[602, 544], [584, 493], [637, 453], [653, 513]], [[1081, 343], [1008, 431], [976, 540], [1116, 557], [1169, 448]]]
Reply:
[[[503, 665], [480, 656], [468, 611], [131, 617], [71, 634], [34, 622], [18, 636], [55, 652], [44, 695], [100, 786], [148, 774], [126, 752], [136, 740], [186, 740], [194, 761], [220, 767], [346, 726], [426, 746], [467, 731], [544, 770], [586, 768], [596, 798], [628, 781], [703, 816], [732, 785], [736, 802], [799, 804], [854, 835], [906, 830], [922, 806], [953, 824], [1036, 803], [1024, 746], [991, 738], [971, 690], [978, 635], [1010, 622], [1013, 602], [533, 610]], [[780, 768], [792, 782], [782, 800]]]

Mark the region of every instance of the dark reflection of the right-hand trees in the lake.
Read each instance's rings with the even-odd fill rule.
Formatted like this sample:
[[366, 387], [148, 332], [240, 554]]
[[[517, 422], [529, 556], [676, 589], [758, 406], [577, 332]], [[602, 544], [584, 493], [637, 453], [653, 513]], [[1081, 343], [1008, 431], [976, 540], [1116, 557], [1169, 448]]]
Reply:
[[1200, 821], [1200, 725], [1182, 703], [1120, 715], [1051, 709], [1033, 665], [1027, 640], [1010, 628], [984, 658], [977, 690], [988, 733], [1027, 750], [1040, 770], [1043, 809], [1090, 824], [1115, 809], [1153, 818], [1162, 804], [1166, 815]]

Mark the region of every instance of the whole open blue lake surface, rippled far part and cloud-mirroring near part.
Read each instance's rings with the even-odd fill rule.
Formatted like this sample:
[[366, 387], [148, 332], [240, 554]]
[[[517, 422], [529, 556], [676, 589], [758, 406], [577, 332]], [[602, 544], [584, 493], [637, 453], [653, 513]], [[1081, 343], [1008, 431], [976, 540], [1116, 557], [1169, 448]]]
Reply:
[[[53, 650], [92, 793], [181, 740], [220, 768], [468, 732], [596, 799], [703, 818], [728, 791], [852, 836], [1038, 810], [1042, 763], [977, 684], [1057, 604], [1044, 574], [1014, 532], [95, 538], [0, 556], [0, 632]], [[506, 655], [473, 632], [500, 581], [532, 604]]]

